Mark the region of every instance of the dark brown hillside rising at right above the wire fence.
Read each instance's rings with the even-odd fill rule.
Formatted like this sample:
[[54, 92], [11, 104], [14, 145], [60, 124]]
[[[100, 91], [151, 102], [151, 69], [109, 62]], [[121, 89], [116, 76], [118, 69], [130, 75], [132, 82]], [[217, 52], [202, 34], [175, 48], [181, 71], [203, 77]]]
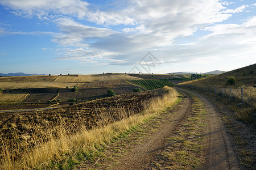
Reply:
[[236, 78], [236, 83], [233, 85], [233, 87], [256, 86], [256, 64], [228, 71], [223, 74], [213, 75], [208, 78], [192, 80], [180, 84], [189, 84], [194, 86], [226, 87], [226, 79], [229, 76], [234, 76]]

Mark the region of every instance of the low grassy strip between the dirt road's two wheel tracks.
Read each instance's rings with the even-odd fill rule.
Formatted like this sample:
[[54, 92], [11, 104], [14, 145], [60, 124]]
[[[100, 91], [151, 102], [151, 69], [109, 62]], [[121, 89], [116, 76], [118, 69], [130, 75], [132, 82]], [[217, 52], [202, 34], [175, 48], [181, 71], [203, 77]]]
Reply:
[[201, 101], [193, 96], [192, 112], [171, 138], [169, 146], [162, 152], [163, 163], [169, 169], [200, 169], [203, 158], [203, 129], [205, 109]]

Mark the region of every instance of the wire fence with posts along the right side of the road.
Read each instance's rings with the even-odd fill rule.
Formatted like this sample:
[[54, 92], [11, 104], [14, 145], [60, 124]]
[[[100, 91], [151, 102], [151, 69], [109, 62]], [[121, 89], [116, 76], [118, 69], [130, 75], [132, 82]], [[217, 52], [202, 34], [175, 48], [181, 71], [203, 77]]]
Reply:
[[224, 88], [214, 86], [194, 86], [188, 84], [176, 86], [210, 93], [216, 96], [224, 97], [227, 100], [235, 100], [238, 102], [238, 105], [246, 104], [250, 107], [256, 107], [256, 89], [254, 87]]

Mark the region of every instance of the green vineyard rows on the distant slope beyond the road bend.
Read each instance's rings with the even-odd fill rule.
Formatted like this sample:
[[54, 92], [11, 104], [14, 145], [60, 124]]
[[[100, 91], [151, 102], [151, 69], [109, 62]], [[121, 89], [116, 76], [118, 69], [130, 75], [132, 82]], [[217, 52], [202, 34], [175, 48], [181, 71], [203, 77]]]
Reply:
[[126, 80], [127, 83], [135, 84], [144, 88], [145, 90], [152, 90], [155, 88], [162, 88], [164, 86], [174, 86], [174, 84], [162, 80]]

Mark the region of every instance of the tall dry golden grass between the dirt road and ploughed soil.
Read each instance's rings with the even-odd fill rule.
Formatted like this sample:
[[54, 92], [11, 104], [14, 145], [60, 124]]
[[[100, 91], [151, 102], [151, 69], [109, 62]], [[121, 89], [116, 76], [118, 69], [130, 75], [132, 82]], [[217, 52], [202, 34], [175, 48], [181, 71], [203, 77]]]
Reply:
[[[117, 137], [135, 125], [142, 124], [147, 118], [175, 103], [177, 92], [174, 88], [164, 87], [162, 92], [163, 95], [160, 97], [156, 96], [144, 102], [145, 109], [138, 114], [126, 105], [119, 105], [117, 116], [111, 116], [112, 114], [104, 109], [97, 109], [96, 112], [101, 118], [98, 126], [90, 130], [82, 124], [82, 119], [80, 124], [69, 126], [72, 124], [71, 120], [67, 122], [59, 117], [57, 121], [60, 126], [49, 124], [44, 130], [39, 127], [40, 124], [34, 124], [32, 137], [29, 140], [34, 147], [26, 147], [28, 146], [26, 143], [20, 143], [18, 134], [17, 139], [12, 141], [1, 134], [0, 142], [3, 146], [1, 169], [46, 169], [51, 162], [75, 158], [78, 152], [89, 153], [96, 150], [98, 146], [109, 142], [113, 137]], [[77, 129], [79, 129], [78, 132]], [[23, 134], [23, 138], [27, 136]]]

